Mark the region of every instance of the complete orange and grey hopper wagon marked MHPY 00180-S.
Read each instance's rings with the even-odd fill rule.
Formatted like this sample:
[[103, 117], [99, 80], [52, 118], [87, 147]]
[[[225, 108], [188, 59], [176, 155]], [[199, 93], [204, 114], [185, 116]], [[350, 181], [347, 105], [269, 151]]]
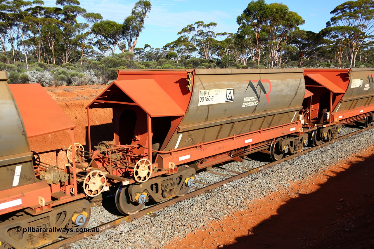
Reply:
[[118, 209], [136, 213], [149, 199], [186, 194], [196, 170], [302, 150], [304, 95], [302, 69], [119, 70], [87, 106], [88, 116], [113, 109], [114, 138], [85, 152], [93, 159], [85, 169], [120, 182]]

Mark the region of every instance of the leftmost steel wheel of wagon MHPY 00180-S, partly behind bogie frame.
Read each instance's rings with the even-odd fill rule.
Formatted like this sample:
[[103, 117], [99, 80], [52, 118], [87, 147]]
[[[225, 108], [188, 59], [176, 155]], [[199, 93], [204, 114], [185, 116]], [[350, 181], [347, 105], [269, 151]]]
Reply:
[[123, 185], [121, 184], [116, 192], [116, 207], [118, 211], [120, 213], [123, 213], [124, 215], [132, 215], [139, 212], [145, 204], [131, 202], [128, 188], [129, 187], [123, 187]]

